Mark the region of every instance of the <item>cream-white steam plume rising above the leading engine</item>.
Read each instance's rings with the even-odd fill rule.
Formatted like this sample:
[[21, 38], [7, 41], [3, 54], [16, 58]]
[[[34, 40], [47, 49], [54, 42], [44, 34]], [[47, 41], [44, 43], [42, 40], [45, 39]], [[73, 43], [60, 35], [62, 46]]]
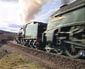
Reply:
[[20, 17], [24, 23], [31, 21], [48, 0], [19, 0]]

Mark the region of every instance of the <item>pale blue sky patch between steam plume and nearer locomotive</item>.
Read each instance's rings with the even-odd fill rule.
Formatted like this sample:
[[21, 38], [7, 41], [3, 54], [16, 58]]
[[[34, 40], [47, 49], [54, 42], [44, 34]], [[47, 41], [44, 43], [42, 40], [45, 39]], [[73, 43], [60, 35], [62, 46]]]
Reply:
[[35, 16], [35, 20], [40, 20], [42, 22], [48, 22], [50, 15], [52, 15], [56, 10], [59, 9], [61, 3], [59, 0], [50, 0], [46, 5], [42, 7], [42, 10]]

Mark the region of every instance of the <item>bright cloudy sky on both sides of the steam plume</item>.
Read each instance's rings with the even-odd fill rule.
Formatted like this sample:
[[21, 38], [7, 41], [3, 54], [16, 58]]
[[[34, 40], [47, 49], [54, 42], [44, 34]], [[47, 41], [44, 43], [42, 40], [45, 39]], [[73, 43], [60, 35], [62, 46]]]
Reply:
[[[35, 15], [34, 20], [47, 23], [61, 3], [60, 0], [49, 0]], [[19, 20], [19, 3], [17, 0], [0, 0], [0, 30], [18, 32], [23, 23]]]

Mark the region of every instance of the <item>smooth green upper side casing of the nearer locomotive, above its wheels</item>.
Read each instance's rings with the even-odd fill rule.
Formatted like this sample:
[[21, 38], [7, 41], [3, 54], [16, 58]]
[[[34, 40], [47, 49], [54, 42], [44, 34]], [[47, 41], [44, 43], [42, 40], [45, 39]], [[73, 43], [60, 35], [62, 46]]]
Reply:
[[[79, 6], [80, 7], [80, 6]], [[59, 13], [61, 9], [58, 10], [53, 16], [51, 16], [47, 30], [53, 29], [55, 27], [71, 26], [71, 25], [85, 25], [85, 5], [83, 7], [71, 8], [67, 13]], [[68, 11], [67, 9], [66, 11]], [[64, 10], [65, 11], [65, 10]]]

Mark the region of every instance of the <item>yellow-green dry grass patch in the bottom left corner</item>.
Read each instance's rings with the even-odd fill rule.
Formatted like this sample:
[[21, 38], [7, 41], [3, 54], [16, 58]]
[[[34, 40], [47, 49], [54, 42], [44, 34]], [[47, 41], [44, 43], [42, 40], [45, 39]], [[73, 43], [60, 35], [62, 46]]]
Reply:
[[0, 69], [45, 69], [21, 55], [9, 54], [0, 59]]

